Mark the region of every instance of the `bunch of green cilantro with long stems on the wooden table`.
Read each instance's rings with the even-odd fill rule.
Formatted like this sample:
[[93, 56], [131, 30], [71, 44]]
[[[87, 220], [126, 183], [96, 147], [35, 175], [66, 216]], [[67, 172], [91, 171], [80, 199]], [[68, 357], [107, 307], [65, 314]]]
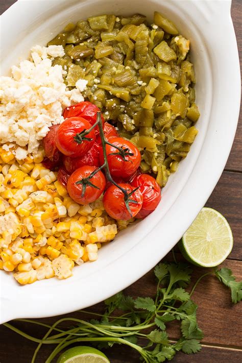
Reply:
[[[35, 338], [20, 331], [9, 323], [6, 327], [14, 330], [29, 340], [38, 343], [32, 363], [35, 362], [39, 349], [43, 344], [55, 344], [45, 363], [51, 363], [63, 349], [71, 344], [89, 342], [99, 349], [110, 348], [114, 344], [123, 344], [135, 349], [146, 363], [171, 360], [182, 351], [186, 354], [201, 350], [203, 332], [198, 326], [198, 306], [191, 296], [206, 275], [201, 276], [191, 292], [185, 288], [190, 283], [192, 270], [187, 263], [162, 262], [155, 269], [157, 279], [156, 294], [152, 297], [133, 298], [122, 292], [105, 300], [103, 314], [89, 312], [92, 319], [84, 321], [76, 318], [63, 318], [52, 326], [34, 320], [18, 319], [32, 324], [42, 325], [49, 330], [42, 339]], [[215, 276], [231, 289], [232, 301], [236, 303], [242, 297], [242, 282], [236, 282], [232, 272], [227, 268], [214, 270]], [[81, 311], [81, 310], [80, 310]], [[63, 322], [72, 324], [69, 328], [60, 329]], [[180, 338], [171, 340], [166, 331], [167, 323], [180, 323]]]

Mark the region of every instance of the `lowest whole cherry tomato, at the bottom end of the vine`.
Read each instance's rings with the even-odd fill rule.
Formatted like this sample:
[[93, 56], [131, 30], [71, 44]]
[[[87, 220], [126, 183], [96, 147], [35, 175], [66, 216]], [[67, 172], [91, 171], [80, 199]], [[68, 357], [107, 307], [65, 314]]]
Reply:
[[[121, 183], [119, 184], [121, 187], [127, 190], [128, 193], [135, 190], [133, 186], [130, 184]], [[135, 190], [132, 195], [129, 197], [131, 200], [136, 201], [137, 203], [129, 202], [129, 208], [132, 213], [132, 217], [134, 217], [141, 209], [143, 197], [139, 189]], [[127, 221], [131, 219], [130, 212], [128, 211], [124, 193], [120, 190], [116, 185], [111, 185], [104, 193], [103, 197], [103, 205], [106, 209], [106, 212], [116, 220]]]

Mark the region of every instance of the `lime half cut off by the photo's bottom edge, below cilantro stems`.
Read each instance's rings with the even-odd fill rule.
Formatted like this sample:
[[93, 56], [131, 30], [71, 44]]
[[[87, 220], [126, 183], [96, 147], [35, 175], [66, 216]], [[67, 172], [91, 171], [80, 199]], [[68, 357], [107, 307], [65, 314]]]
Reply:
[[110, 363], [110, 360], [98, 349], [81, 346], [62, 353], [57, 363]]

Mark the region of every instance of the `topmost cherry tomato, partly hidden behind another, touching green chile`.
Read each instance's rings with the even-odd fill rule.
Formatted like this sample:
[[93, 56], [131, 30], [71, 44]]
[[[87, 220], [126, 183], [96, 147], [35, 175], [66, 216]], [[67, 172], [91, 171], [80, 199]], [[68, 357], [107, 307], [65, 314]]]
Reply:
[[[84, 102], [77, 103], [74, 106], [67, 107], [63, 111], [63, 117], [64, 118], [69, 118], [69, 117], [74, 117], [74, 116], [83, 117], [87, 121], [89, 121], [89, 123], [91, 125], [94, 125], [96, 122], [96, 112], [98, 112], [98, 111], [100, 111], [100, 109], [98, 107], [96, 107], [93, 103], [91, 103], [89, 101], [84, 101]], [[104, 123], [103, 116], [102, 116], [102, 120]]]

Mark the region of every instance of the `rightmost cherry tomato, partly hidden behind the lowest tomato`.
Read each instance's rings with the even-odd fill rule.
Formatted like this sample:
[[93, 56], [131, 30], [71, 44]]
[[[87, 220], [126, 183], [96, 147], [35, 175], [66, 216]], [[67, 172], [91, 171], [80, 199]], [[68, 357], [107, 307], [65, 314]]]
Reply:
[[136, 218], [144, 218], [153, 212], [161, 200], [160, 186], [149, 174], [140, 174], [134, 178], [131, 185], [133, 187], [139, 186], [139, 190], [143, 196], [142, 208], [136, 215]]

